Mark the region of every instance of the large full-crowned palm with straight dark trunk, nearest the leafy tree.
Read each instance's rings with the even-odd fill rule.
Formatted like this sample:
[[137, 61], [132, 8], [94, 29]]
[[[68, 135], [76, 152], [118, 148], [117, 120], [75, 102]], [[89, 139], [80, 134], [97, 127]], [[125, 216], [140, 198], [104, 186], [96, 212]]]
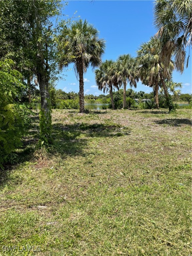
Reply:
[[64, 28], [59, 36], [59, 67], [63, 69], [74, 63], [76, 76], [79, 76], [80, 113], [84, 112], [83, 74], [89, 65], [95, 68], [101, 64], [105, 50], [105, 41], [98, 36], [98, 30], [86, 20], [75, 21], [70, 27]]

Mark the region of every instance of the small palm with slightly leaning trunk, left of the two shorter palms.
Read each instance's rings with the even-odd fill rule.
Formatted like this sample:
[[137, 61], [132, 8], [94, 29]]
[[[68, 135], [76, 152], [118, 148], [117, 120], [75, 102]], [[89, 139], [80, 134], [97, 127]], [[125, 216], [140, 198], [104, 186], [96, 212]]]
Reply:
[[119, 90], [119, 82], [116, 77], [116, 63], [112, 60], [104, 61], [99, 69], [95, 70], [95, 81], [98, 85], [99, 90], [103, 92], [108, 92], [111, 97], [112, 109], [115, 109], [115, 104], [113, 100], [113, 87]]

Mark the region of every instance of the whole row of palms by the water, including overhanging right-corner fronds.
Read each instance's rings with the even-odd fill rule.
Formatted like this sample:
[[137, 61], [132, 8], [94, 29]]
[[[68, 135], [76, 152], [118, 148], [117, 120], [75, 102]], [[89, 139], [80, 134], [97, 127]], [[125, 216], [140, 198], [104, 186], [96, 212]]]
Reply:
[[[74, 22], [64, 28], [59, 37], [59, 66], [62, 69], [74, 63], [79, 78], [80, 112], [84, 111], [83, 74], [89, 66], [95, 70], [95, 80], [103, 92], [109, 91], [112, 108], [115, 108], [113, 89], [123, 86], [123, 108], [126, 106], [126, 86], [136, 88], [139, 79], [155, 92], [156, 108], [159, 108], [158, 91], [164, 90], [167, 99], [167, 84], [171, 81], [172, 71], [184, 70], [186, 47], [192, 44], [192, 2], [191, 0], [156, 0], [155, 25], [157, 34], [147, 43], [141, 44], [137, 57], [130, 54], [120, 55], [117, 61], [101, 58], [105, 50], [104, 39], [86, 20]], [[175, 56], [175, 61], [172, 57]], [[189, 56], [187, 59], [188, 65]]]

